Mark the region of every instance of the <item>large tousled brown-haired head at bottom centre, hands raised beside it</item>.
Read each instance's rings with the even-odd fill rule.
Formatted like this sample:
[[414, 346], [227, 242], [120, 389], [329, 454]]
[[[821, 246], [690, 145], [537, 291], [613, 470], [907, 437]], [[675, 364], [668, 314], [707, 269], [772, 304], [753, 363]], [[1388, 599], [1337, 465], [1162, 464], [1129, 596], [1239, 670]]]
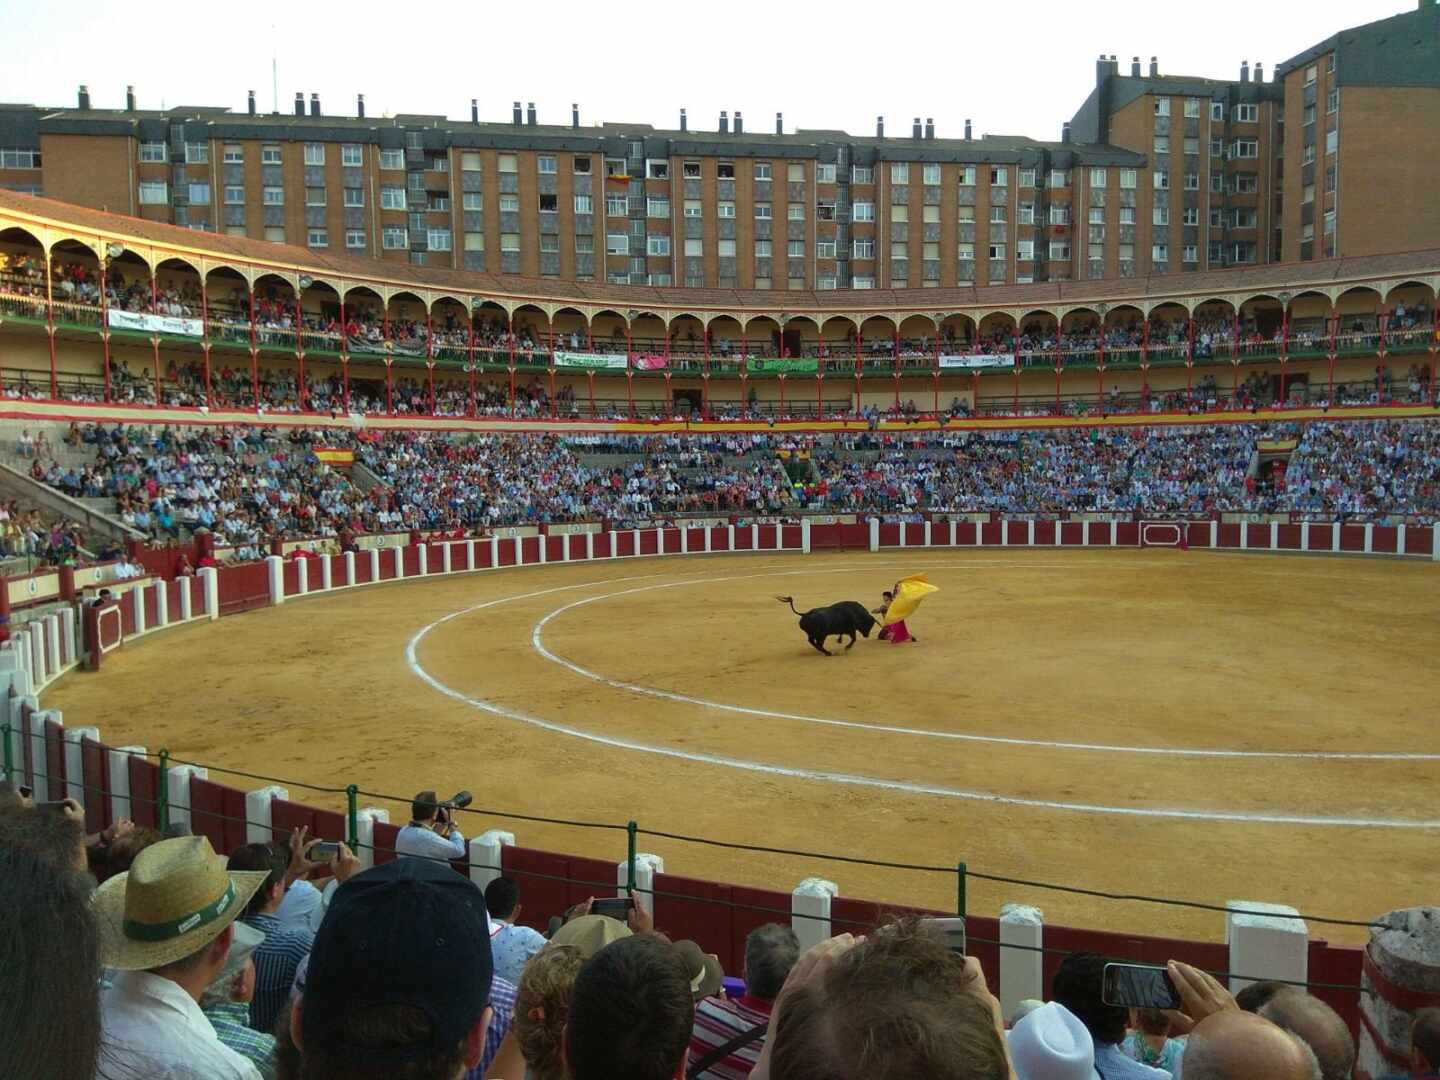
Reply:
[[979, 966], [917, 920], [870, 935], [776, 1008], [772, 1080], [1009, 1076]]

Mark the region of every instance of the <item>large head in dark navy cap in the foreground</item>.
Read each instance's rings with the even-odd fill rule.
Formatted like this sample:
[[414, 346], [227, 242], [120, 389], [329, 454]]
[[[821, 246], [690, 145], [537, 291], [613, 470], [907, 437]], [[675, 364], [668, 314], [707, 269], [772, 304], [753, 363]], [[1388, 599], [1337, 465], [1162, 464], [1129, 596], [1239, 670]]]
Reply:
[[494, 972], [485, 897], [400, 858], [336, 890], [291, 1015], [304, 1080], [452, 1080], [480, 1064]]

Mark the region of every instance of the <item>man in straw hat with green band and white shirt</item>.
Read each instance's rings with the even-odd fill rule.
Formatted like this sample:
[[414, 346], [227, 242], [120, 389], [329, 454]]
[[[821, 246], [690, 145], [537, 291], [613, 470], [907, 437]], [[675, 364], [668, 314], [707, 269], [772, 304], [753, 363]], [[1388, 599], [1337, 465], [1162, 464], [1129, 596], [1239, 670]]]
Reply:
[[230, 924], [264, 884], [262, 873], [226, 873], [204, 837], [180, 837], [145, 848], [96, 890], [101, 962], [121, 972], [101, 999], [98, 1076], [259, 1080], [199, 1002], [225, 968]]

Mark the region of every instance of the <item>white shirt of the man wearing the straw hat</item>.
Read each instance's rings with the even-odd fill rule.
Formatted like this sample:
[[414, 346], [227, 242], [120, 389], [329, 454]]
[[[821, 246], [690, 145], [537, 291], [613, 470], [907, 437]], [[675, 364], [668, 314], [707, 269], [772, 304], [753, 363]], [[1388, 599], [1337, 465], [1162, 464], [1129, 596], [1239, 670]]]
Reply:
[[101, 995], [98, 1074], [107, 1080], [261, 1080], [255, 1064], [215, 1037], [177, 984], [127, 971]]

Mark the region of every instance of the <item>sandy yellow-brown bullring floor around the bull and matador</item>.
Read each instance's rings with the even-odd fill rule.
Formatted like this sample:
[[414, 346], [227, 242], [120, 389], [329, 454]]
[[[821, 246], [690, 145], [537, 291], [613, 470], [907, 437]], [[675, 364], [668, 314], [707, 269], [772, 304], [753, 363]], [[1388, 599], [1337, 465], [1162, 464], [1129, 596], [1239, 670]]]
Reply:
[[[773, 599], [874, 606], [919, 570], [940, 592], [912, 619], [916, 645], [825, 658]], [[1440, 570], [1388, 560], [649, 559], [171, 631], [46, 704], [111, 744], [317, 785], [469, 788], [521, 814], [1368, 919], [1434, 900], [1437, 615]], [[477, 825], [624, 857], [616, 834], [487, 818], [467, 835]], [[953, 877], [642, 850], [671, 873], [782, 888], [822, 874], [848, 896], [953, 904]], [[975, 913], [1007, 900], [1054, 923], [1223, 935], [1215, 913], [971, 883]]]

